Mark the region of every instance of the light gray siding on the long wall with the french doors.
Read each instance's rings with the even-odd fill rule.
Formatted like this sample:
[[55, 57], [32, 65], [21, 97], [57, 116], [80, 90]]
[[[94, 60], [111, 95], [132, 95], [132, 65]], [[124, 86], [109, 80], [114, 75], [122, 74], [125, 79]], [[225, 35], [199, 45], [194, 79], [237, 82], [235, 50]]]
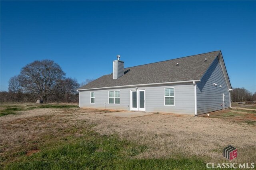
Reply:
[[[174, 87], [174, 106], [164, 106], [164, 88]], [[104, 109], [106, 102], [106, 109], [111, 110], [126, 110], [130, 111], [130, 91], [131, 88], [119, 89], [104, 89], [94, 90], [95, 103], [90, 104], [90, 92], [80, 91], [80, 107]], [[138, 90], [145, 89], [146, 94], [146, 112], [159, 113], [178, 113], [194, 115], [194, 86], [190, 84], [176, 84], [163, 86], [145, 86], [138, 87]], [[108, 91], [120, 90], [120, 104], [108, 104]]]

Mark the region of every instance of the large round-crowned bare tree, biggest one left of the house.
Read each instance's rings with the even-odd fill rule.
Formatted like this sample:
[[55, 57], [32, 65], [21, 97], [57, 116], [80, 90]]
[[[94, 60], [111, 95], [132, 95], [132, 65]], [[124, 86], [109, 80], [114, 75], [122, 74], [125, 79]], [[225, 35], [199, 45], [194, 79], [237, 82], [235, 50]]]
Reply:
[[21, 84], [27, 93], [39, 95], [47, 102], [47, 98], [53, 94], [57, 80], [63, 79], [65, 73], [60, 65], [52, 60], [34, 61], [20, 71]]

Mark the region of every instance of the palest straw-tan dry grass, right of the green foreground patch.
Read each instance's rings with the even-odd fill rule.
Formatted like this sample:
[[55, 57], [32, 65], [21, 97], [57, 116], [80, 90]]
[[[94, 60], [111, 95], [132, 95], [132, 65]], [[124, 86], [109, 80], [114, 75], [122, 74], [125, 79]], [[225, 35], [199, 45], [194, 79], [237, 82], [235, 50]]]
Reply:
[[[106, 119], [106, 118], [104, 118]], [[95, 127], [100, 134], [119, 134], [122, 138], [150, 147], [140, 158], [196, 155], [210, 162], [225, 160], [222, 149], [238, 148], [236, 161], [255, 162], [255, 126], [234, 123], [228, 119], [209, 119], [188, 115], [148, 115], [133, 119], [107, 118]]]

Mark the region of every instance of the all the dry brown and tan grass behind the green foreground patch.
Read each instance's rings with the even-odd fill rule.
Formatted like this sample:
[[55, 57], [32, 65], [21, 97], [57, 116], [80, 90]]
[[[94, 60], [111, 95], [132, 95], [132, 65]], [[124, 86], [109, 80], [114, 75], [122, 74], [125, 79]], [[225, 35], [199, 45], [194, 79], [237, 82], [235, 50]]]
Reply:
[[[222, 149], [228, 145], [238, 148], [233, 162], [255, 162], [256, 126], [234, 117], [214, 118], [230, 110], [194, 117], [190, 115], [153, 114], [124, 118], [104, 115], [92, 109], [36, 109], [1, 117], [1, 156], [31, 150], [49, 139], [59, 141], [70, 134], [81, 135], [83, 127], [94, 125], [100, 134], [118, 134], [120, 138], [144, 144], [147, 149], [138, 158], [176, 158], [196, 156], [205, 162], [227, 162]], [[246, 111], [244, 111], [246, 113]], [[249, 114], [249, 113], [248, 113]], [[252, 119], [255, 114], [252, 115]], [[247, 119], [247, 118], [246, 118]], [[250, 118], [248, 118], [250, 119]]]

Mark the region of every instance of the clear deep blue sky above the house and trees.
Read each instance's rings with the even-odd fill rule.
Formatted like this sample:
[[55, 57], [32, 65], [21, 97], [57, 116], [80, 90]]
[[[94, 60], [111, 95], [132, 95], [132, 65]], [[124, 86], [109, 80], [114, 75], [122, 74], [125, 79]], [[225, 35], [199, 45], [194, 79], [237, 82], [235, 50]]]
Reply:
[[78, 82], [222, 50], [232, 87], [256, 91], [255, 1], [1, 1], [1, 91], [34, 60]]

